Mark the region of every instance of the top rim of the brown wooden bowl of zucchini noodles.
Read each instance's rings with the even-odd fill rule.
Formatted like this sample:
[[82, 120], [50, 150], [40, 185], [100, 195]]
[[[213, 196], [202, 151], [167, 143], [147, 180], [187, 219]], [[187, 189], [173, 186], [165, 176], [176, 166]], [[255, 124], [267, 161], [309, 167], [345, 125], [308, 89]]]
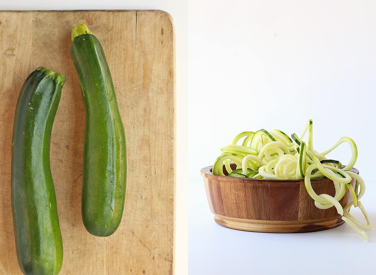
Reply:
[[[260, 182], [265, 182], [268, 184], [305, 184], [304, 179], [250, 179], [250, 178], [244, 178], [244, 177], [220, 176], [220, 175], [215, 175], [210, 171], [212, 167], [213, 165], [202, 168], [200, 170], [201, 175], [208, 179], [215, 179], [215, 180], [220, 180], [223, 182], [257, 183], [257, 184], [260, 184]], [[356, 174], [359, 174], [359, 170], [356, 168], [351, 168], [350, 171]], [[320, 179], [311, 179], [311, 182], [322, 183], [322, 182], [333, 182], [333, 181], [331, 179], [328, 179], [327, 177], [323, 177]]]

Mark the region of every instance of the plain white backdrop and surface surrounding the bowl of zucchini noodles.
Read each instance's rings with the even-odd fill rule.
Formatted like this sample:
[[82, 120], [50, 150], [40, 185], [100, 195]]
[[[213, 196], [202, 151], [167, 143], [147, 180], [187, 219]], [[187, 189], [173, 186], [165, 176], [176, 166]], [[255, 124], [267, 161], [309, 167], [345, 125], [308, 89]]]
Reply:
[[[376, 224], [375, 2], [193, 2], [189, 273], [375, 274], [374, 231], [365, 242], [346, 224], [300, 234], [230, 230], [214, 222], [200, 175], [239, 132], [277, 128], [300, 135], [312, 118], [318, 151], [345, 135], [355, 140], [355, 167], [367, 184], [362, 203]], [[346, 163], [350, 155], [343, 144], [329, 156]]]

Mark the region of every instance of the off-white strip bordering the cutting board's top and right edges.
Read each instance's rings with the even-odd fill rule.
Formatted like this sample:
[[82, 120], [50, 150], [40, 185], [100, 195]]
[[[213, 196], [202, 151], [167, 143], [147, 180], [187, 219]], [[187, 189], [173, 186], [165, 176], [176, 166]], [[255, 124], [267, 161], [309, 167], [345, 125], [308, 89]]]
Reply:
[[[17, 0], [0, 1], [0, 10], [71, 10], [71, 9], [160, 9], [168, 12], [174, 21], [176, 38], [176, 161], [177, 167], [187, 167], [187, 1], [173, 0]], [[2, 38], [0, 38], [2, 39]], [[0, 57], [1, 58], [1, 57]], [[176, 238], [175, 273], [187, 273], [187, 171], [176, 173]], [[102, 274], [98, 274], [102, 275]], [[111, 274], [115, 275], [115, 274]], [[116, 274], [117, 275], [117, 274]], [[159, 274], [158, 274], [159, 275]], [[163, 274], [161, 274], [163, 275]]]

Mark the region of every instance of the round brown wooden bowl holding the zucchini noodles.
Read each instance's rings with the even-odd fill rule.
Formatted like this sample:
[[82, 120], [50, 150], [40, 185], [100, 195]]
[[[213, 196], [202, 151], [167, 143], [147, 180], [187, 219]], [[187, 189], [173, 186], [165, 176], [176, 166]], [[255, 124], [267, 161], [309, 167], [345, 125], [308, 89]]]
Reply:
[[[233, 165], [233, 164], [232, 164]], [[244, 231], [293, 233], [326, 230], [344, 223], [335, 207], [318, 209], [304, 180], [244, 179], [214, 175], [212, 166], [201, 169], [209, 207], [218, 224]], [[234, 169], [235, 167], [232, 166]], [[359, 174], [355, 168], [353, 172]], [[223, 166], [223, 172], [227, 174]], [[312, 179], [317, 194], [334, 196], [333, 181]], [[355, 185], [355, 180], [351, 181]], [[350, 192], [340, 200], [352, 200]]]

